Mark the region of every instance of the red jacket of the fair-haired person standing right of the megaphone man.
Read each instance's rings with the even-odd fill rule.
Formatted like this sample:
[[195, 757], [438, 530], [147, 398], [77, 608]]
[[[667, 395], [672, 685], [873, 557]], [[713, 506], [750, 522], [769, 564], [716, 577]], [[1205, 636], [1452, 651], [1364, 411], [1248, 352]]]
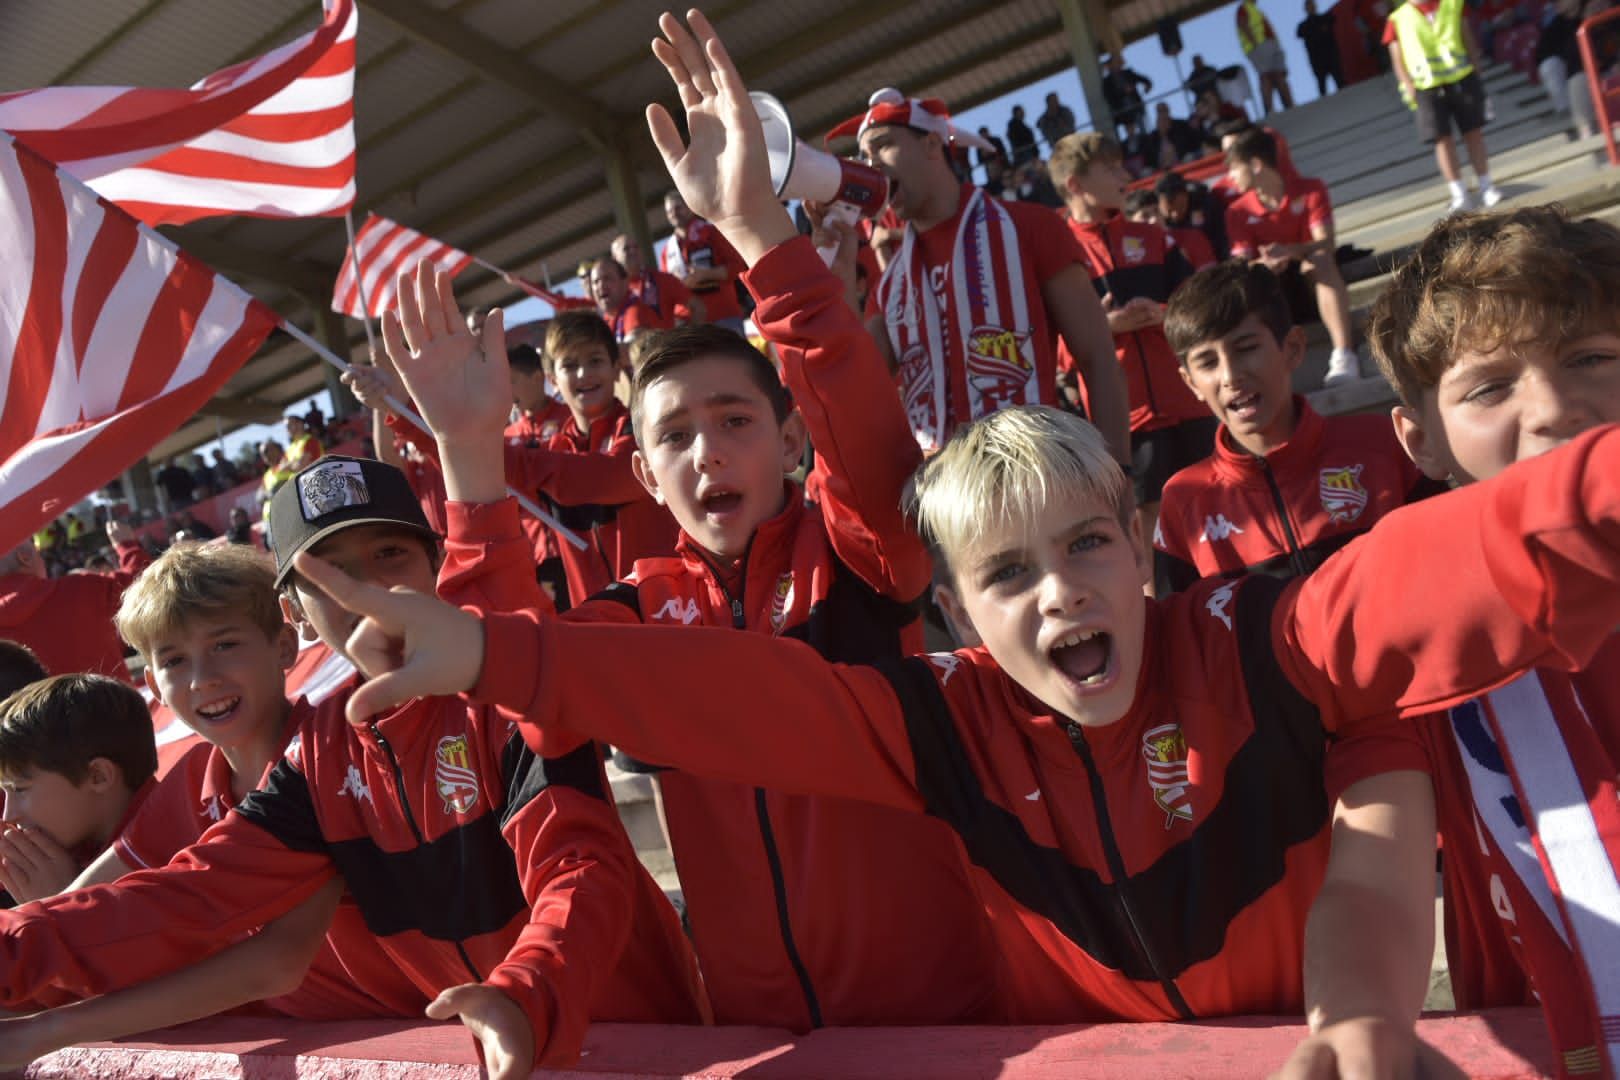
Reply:
[[[1102, 223], [1069, 220], [1069, 232], [1085, 253], [1085, 269], [1098, 296], [1124, 304], [1137, 296], [1163, 304], [1181, 282], [1192, 277], [1192, 264], [1158, 225], [1113, 215]], [[1157, 431], [1189, 419], [1204, 419], [1209, 408], [1181, 379], [1181, 364], [1165, 340], [1163, 327], [1115, 335], [1115, 356], [1124, 368], [1131, 398], [1131, 431]], [[1059, 366], [1074, 359], [1068, 345], [1059, 348]]]

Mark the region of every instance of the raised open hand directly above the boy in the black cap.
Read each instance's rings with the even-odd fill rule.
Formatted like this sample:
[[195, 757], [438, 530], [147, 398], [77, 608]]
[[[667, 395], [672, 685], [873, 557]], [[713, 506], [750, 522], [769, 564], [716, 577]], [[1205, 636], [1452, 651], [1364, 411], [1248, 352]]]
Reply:
[[475, 337], [450, 291], [450, 275], [426, 259], [402, 274], [395, 311], [382, 313], [382, 343], [439, 442], [501, 440], [512, 411], [505, 319]]

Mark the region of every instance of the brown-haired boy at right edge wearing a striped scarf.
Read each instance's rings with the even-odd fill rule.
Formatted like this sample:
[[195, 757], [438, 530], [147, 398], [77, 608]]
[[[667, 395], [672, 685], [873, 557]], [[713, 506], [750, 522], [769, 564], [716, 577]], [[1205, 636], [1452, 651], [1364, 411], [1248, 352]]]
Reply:
[[[1570, 442], [1612, 440], [1596, 429], [1620, 421], [1617, 300], [1620, 232], [1612, 225], [1570, 220], [1557, 207], [1435, 225], [1396, 270], [1371, 324], [1379, 368], [1400, 395], [1395, 429], [1413, 460], [1474, 494], [1528, 486], [1578, 453]], [[1605, 523], [1604, 508], [1589, 499], [1588, 520]], [[1580, 542], [1586, 529], [1568, 528]], [[1489, 536], [1456, 525], [1439, 525], [1437, 536], [1442, 549], [1466, 544], [1469, 559], [1482, 542], [1490, 581], [1523, 594]], [[1584, 562], [1586, 580], [1563, 588], [1605, 589], [1607, 554], [1592, 549]], [[1424, 573], [1401, 573], [1434, 596]], [[1571, 599], [1552, 593], [1542, 619], [1557, 619]], [[1620, 1075], [1615, 610], [1609, 597], [1591, 614], [1596, 654], [1549, 657], [1416, 724], [1346, 730], [1328, 756], [1340, 792], [1333, 857], [1306, 952], [1317, 1035], [1286, 1075], [1335, 1067], [1401, 1075], [1409, 1067], [1432, 954], [1437, 823], [1458, 1007], [1539, 1001], [1558, 1075]], [[1571, 675], [1575, 659], [1589, 662]]]

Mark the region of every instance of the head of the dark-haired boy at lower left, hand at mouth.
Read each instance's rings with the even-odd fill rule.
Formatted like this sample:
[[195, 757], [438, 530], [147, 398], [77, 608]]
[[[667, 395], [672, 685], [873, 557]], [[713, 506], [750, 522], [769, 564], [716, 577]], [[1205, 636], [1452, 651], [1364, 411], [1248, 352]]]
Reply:
[[151, 793], [146, 703], [96, 674], [53, 675], [0, 701], [0, 886], [16, 902], [68, 886]]

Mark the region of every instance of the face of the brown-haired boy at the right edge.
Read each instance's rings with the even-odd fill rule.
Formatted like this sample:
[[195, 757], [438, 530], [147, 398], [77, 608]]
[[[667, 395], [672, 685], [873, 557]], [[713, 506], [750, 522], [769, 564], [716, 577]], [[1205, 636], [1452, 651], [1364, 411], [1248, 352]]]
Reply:
[[1620, 335], [1586, 334], [1557, 347], [1463, 348], [1424, 392], [1395, 410], [1395, 434], [1435, 479], [1473, 483], [1620, 421]]

